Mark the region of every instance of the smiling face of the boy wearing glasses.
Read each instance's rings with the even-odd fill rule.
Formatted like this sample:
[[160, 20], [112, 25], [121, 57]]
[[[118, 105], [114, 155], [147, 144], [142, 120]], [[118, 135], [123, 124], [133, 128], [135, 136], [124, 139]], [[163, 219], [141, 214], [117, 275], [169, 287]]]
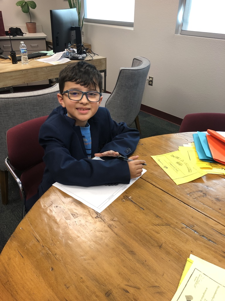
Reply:
[[[95, 90], [91, 88], [85, 88], [84, 86], [76, 84], [75, 82], [65, 82], [64, 91], [72, 90], [72, 89], [80, 90], [82, 92], [88, 92], [88, 91], [99, 92], [99, 89]], [[75, 119], [75, 125], [82, 126], [82, 127], [85, 127], [88, 119], [90, 119], [92, 116], [95, 115], [102, 101], [102, 96], [100, 98], [100, 101], [98, 102], [88, 101], [86, 95], [84, 95], [79, 101], [70, 100], [68, 98], [67, 93], [63, 95], [58, 93], [57, 96], [61, 106], [66, 108], [67, 115], [70, 118]]]

